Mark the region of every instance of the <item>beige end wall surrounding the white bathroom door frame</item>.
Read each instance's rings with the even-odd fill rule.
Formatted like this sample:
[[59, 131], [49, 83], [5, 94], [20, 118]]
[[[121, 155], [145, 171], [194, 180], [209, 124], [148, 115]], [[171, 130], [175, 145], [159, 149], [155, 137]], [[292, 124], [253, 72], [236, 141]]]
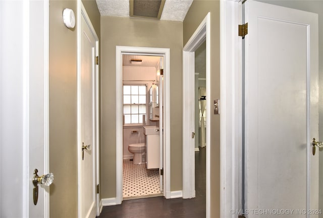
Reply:
[[171, 190], [182, 190], [182, 34], [182, 22], [101, 17], [101, 198], [116, 197], [117, 45], [171, 49]]

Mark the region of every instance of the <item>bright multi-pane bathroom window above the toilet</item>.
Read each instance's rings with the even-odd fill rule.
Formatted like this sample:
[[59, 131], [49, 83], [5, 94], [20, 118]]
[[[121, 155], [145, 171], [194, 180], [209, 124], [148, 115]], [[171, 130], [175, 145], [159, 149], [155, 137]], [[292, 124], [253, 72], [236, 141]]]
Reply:
[[123, 86], [124, 124], [143, 123], [146, 117], [146, 93], [146, 85]]

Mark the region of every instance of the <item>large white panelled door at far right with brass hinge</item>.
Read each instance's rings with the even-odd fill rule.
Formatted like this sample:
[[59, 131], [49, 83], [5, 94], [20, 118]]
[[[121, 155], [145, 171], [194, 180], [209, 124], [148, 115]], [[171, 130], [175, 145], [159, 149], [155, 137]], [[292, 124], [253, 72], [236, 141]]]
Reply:
[[245, 23], [246, 216], [318, 217], [317, 15], [247, 1]]

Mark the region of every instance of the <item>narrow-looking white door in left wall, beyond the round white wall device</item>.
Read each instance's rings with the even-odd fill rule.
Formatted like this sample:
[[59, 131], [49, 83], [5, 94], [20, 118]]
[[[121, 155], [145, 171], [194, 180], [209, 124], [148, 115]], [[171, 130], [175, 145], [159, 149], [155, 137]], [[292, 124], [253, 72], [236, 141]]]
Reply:
[[81, 189], [80, 217], [96, 215], [95, 174], [95, 49], [96, 40], [82, 14], [81, 33]]

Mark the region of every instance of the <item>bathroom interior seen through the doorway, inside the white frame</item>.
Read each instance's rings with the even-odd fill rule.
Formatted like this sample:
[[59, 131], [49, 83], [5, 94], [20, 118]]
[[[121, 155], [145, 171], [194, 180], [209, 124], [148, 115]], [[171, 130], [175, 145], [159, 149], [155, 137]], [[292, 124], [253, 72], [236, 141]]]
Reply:
[[163, 196], [159, 163], [163, 95], [159, 92], [164, 57], [123, 54], [122, 69], [123, 199]]

